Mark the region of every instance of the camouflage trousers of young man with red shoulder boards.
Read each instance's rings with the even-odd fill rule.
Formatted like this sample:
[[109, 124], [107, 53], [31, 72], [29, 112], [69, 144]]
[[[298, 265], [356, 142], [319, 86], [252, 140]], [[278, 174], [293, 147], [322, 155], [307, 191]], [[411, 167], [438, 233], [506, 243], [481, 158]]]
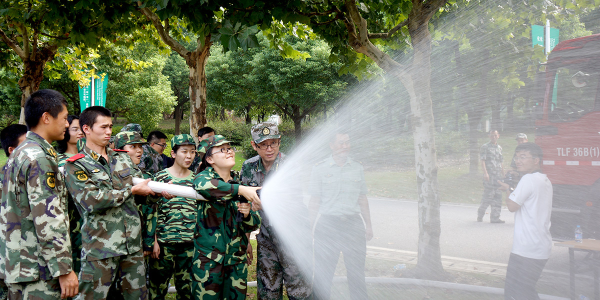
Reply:
[[142, 250], [134, 254], [83, 261], [76, 300], [107, 299], [110, 286], [119, 281], [123, 299], [148, 299]]

